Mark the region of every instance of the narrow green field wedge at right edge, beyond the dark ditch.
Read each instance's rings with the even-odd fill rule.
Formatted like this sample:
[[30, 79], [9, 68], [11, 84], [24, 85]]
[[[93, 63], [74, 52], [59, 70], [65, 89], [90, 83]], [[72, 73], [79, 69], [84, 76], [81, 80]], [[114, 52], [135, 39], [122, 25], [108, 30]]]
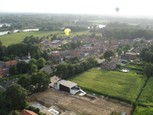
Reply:
[[144, 105], [153, 106], [153, 77], [149, 78], [138, 102]]

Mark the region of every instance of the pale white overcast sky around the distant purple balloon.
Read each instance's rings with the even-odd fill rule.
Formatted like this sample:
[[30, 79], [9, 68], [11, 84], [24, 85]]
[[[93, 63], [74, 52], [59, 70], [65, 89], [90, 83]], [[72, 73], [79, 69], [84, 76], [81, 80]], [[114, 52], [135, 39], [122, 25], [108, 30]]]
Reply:
[[0, 0], [0, 12], [153, 17], [153, 0]]

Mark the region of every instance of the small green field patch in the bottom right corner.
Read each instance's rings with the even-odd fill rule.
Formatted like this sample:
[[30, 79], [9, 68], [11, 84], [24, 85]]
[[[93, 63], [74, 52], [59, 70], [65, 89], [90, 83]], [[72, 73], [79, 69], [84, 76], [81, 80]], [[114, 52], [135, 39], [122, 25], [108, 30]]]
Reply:
[[153, 115], [153, 108], [137, 107], [133, 115]]

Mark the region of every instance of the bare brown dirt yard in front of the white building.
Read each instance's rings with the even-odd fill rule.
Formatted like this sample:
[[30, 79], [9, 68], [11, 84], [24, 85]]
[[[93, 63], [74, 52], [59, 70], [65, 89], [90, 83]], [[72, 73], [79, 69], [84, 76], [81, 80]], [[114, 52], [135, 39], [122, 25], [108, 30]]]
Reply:
[[57, 106], [62, 115], [111, 115], [112, 112], [126, 112], [131, 115], [132, 106], [105, 98], [73, 96], [65, 92], [48, 89], [29, 97], [46, 107]]

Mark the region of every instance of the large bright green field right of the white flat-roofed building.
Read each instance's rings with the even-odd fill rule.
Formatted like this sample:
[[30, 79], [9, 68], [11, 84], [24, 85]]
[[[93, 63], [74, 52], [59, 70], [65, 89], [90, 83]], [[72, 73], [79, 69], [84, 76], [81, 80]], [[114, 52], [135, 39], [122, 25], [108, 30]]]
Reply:
[[146, 78], [136, 73], [90, 69], [70, 79], [83, 89], [134, 102]]

